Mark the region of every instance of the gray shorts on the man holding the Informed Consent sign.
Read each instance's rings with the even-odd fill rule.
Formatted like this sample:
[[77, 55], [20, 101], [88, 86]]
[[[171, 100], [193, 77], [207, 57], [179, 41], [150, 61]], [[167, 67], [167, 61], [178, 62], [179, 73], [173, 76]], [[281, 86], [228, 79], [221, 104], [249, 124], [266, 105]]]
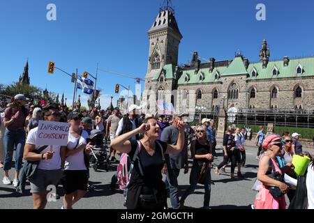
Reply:
[[29, 179], [31, 183], [31, 193], [44, 192], [49, 185], [56, 186], [62, 176], [63, 171], [61, 171], [61, 169], [37, 169], [35, 175]]

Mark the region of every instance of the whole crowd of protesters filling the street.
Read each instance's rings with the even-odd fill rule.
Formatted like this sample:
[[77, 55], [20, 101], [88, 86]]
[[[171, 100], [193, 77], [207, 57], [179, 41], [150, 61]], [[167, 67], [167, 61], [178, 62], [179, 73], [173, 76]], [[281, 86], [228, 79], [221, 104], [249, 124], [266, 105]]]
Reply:
[[[110, 162], [116, 162], [122, 154], [128, 155], [129, 179], [124, 195], [129, 209], [167, 208], [167, 197], [172, 208], [185, 208], [184, 203], [197, 183], [204, 185], [203, 208], [207, 209], [210, 208], [212, 168], [215, 174], [225, 173], [225, 167], [231, 162], [230, 178], [235, 178], [236, 167], [237, 178], [244, 178], [241, 167], [246, 167], [246, 140], [251, 140], [253, 135], [250, 127], [227, 128], [223, 137], [223, 161], [214, 167], [217, 156], [214, 120], [203, 118], [198, 125], [190, 126], [185, 114], [145, 116], [139, 113], [141, 107], [137, 105], [130, 105], [127, 114], [121, 114], [117, 107], [113, 111], [94, 108], [79, 112], [54, 103], [45, 107], [26, 103], [27, 98], [19, 94], [12, 102], [1, 105], [0, 167], [4, 171], [3, 184], [13, 184], [17, 191], [23, 192], [25, 180], [29, 180], [33, 208], [45, 208], [49, 185], [63, 185], [62, 209], [73, 208], [93, 187], [89, 184], [89, 156], [94, 146], [90, 136], [95, 130], [103, 132], [103, 144], [110, 141], [107, 151]], [[40, 120], [69, 123], [67, 146], [36, 144]], [[290, 201], [289, 208], [300, 205], [314, 208], [313, 158], [303, 151], [300, 136], [297, 132], [283, 132], [281, 136], [269, 134], [260, 126], [254, 141], [259, 168], [253, 209], [285, 209], [285, 194]], [[181, 169], [184, 174], [189, 171], [188, 150], [193, 165], [189, 186], [181, 193], [178, 178]], [[9, 170], [13, 167], [13, 154], [12, 181]], [[294, 155], [311, 160], [302, 176], [294, 171]], [[297, 179], [297, 188], [285, 182], [285, 174]], [[112, 190], [119, 180], [117, 173], [112, 176]], [[304, 188], [306, 194], [302, 195]], [[183, 195], [179, 197], [179, 194]], [[300, 199], [302, 196], [304, 199]]]

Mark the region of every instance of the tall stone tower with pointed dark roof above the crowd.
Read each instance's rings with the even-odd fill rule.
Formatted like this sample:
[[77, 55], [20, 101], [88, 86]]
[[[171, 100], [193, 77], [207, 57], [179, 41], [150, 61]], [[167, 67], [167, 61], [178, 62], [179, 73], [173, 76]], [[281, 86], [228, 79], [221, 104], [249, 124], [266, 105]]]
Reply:
[[[170, 70], [174, 72], [178, 64], [179, 44], [182, 35], [179, 31], [177, 20], [174, 17], [174, 10], [170, 6], [171, 2], [167, 0], [166, 6], [160, 8], [159, 13], [154, 20], [151, 29], [148, 31], [149, 36], [149, 58], [147, 66], [147, 74], [145, 76], [145, 86], [142, 102], [147, 108], [145, 112], [155, 111], [156, 105], [154, 101], [149, 100], [156, 98], [158, 100], [158, 92], [172, 91], [175, 85], [175, 78], [172, 75], [165, 74], [165, 66], [171, 67]], [[157, 77], [157, 78], [156, 78]], [[163, 80], [162, 84], [158, 84], [160, 78]], [[157, 82], [158, 81], [158, 82]], [[161, 92], [161, 94], [164, 94]], [[159, 97], [160, 100], [160, 97]], [[163, 100], [170, 102], [170, 98], [165, 97]], [[143, 105], [143, 104], [142, 104]]]

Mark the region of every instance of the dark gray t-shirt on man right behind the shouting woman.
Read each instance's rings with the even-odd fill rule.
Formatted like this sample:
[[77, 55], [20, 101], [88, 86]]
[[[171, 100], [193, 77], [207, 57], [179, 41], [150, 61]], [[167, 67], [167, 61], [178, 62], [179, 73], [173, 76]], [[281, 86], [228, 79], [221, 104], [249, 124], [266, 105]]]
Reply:
[[[175, 128], [173, 125], [168, 126], [161, 133], [160, 140], [165, 141], [167, 144], [176, 145], [179, 138], [179, 129]], [[172, 169], [181, 169], [184, 167], [184, 160], [186, 160], [186, 148], [184, 148], [181, 153], [170, 154], [170, 167]], [[165, 155], [165, 159], [168, 156]], [[168, 167], [169, 168], [169, 167]]]

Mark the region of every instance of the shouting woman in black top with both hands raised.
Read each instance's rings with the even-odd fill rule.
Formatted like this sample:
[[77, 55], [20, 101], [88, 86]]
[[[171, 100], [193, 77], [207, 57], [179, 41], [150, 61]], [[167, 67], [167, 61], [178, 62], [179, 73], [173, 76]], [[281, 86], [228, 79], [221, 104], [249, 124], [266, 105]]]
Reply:
[[[156, 118], [149, 117], [139, 128], [122, 134], [112, 141], [112, 148], [121, 153], [128, 153], [130, 160], [133, 160], [126, 197], [128, 209], [163, 209], [167, 207], [167, 191], [161, 171], [165, 162], [164, 154], [180, 153], [184, 146], [184, 123], [182, 121], [179, 121], [178, 128], [177, 144], [167, 144], [158, 140], [160, 128]], [[130, 139], [136, 134], [143, 134], [143, 138], [139, 141]]]

